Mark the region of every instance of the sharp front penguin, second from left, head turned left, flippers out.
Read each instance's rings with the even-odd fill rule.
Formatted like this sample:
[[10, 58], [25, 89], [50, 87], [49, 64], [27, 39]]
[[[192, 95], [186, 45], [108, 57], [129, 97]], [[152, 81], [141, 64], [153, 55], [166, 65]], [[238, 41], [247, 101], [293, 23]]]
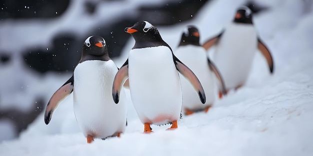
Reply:
[[176, 129], [182, 105], [177, 70], [190, 81], [204, 104], [205, 94], [199, 80], [173, 55], [156, 27], [149, 22], [136, 22], [132, 27], [126, 27], [125, 32], [132, 35], [135, 44], [114, 78], [112, 94], [115, 103], [118, 103], [119, 91], [128, 78], [131, 100], [144, 124], [144, 133], [152, 132], [150, 124], [171, 123], [169, 130]]

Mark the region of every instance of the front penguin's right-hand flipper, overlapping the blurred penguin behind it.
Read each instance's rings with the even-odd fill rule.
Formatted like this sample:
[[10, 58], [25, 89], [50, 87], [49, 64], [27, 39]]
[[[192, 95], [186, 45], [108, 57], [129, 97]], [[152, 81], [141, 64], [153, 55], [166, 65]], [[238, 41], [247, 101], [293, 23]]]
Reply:
[[174, 64], [178, 72], [182, 74], [191, 83], [195, 91], [198, 93], [200, 101], [202, 102], [202, 104], [204, 104], [206, 99], [205, 99], [204, 90], [202, 88], [202, 85], [199, 79], [186, 65], [184, 65], [180, 60], [178, 60], [178, 58], [174, 55], [173, 55], [173, 60], [174, 60]]

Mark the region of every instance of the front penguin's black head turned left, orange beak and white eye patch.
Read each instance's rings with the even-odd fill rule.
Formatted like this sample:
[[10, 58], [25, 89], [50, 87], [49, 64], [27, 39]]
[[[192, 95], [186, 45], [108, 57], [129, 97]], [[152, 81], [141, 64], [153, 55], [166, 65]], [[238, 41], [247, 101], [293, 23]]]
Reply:
[[[137, 42], [163, 42], [156, 27], [148, 21], [138, 21], [131, 27], [126, 27], [125, 32], [130, 33]], [[149, 44], [149, 43], [147, 43]]]

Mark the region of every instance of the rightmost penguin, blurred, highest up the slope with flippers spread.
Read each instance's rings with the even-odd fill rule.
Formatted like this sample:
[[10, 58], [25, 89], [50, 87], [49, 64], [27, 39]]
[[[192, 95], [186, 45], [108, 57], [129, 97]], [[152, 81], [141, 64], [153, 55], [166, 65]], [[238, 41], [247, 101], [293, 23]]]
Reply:
[[271, 54], [257, 37], [252, 24], [251, 11], [246, 6], [241, 6], [237, 10], [234, 20], [223, 29], [222, 33], [207, 40], [202, 46], [207, 50], [214, 44], [216, 44], [216, 51], [212, 61], [219, 69], [227, 91], [244, 85], [257, 48], [265, 57], [270, 73], [273, 72]]

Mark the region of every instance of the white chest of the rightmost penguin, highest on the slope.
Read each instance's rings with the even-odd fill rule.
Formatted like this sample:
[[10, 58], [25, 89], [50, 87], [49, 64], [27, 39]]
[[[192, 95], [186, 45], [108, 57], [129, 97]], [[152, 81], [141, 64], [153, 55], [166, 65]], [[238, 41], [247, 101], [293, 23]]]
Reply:
[[226, 89], [243, 85], [256, 51], [257, 37], [252, 24], [231, 23], [218, 41], [213, 62]]

